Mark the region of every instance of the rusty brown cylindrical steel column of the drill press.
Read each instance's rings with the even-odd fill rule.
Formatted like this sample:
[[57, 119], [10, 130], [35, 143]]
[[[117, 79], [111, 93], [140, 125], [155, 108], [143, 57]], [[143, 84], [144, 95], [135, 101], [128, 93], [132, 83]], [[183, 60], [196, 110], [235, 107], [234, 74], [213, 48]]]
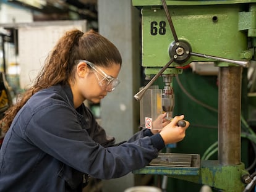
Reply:
[[241, 163], [242, 67], [220, 67], [218, 159], [221, 165]]

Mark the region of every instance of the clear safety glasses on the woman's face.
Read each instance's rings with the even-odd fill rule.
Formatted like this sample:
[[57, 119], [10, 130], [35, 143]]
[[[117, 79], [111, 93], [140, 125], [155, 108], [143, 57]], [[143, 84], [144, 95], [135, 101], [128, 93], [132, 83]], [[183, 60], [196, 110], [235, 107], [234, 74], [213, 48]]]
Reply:
[[[94, 70], [95, 76], [98, 79], [98, 83], [103, 90], [113, 91], [116, 88], [116, 86], [120, 83], [118, 78], [114, 78], [110, 75], [107, 75], [102, 69], [97, 67], [92, 62], [86, 60], [75, 60], [76, 64], [79, 64], [80, 62], [85, 62]], [[100, 75], [101, 78], [98, 75]]]

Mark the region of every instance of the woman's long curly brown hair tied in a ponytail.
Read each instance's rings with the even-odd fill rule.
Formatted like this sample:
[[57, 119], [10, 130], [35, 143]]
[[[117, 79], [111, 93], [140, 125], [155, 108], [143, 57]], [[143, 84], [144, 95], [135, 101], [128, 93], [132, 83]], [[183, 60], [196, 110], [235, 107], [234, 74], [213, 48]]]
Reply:
[[122, 64], [121, 54], [116, 46], [96, 31], [67, 31], [49, 52], [45, 65], [33, 85], [17, 99], [16, 104], [11, 106], [0, 120], [2, 131], [7, 132], [17, 112], [33, 94], [53, 85], [66, 85], [69, 80], [74, 80], [74, 61], [77, 59], [84, 59], [101, 67]]

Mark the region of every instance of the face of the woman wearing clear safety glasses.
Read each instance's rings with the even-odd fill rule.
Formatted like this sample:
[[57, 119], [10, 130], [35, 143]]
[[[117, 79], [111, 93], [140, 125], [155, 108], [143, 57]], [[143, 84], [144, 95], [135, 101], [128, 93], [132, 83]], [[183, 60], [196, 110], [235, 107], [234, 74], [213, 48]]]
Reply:
[[82, 102], [86, 99], [93, 103], [100, 102], [108, 92], [113, 90], [113, 86], [118, 84], [116, 78], [120, 69], [120, 64], [113, 64], [106, 68], [98, 67], [90, 62], [88, 64], [80, 62], [77, 65], [79, 76], [77, 80], [77, 99]]

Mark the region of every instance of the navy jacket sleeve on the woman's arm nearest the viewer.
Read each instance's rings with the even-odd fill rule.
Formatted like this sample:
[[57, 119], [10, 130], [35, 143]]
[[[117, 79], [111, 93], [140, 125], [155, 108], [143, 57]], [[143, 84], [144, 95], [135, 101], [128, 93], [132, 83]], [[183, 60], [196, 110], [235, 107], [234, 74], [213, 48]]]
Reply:
[[122, 177], [140, 169], [164, 148], [160, 134], [105, 148], [91, 138], [74, 111], [64, 104], [49, 104], [36, 111], [27, 124], [25, 136], [64, 164], [101, 179]]

